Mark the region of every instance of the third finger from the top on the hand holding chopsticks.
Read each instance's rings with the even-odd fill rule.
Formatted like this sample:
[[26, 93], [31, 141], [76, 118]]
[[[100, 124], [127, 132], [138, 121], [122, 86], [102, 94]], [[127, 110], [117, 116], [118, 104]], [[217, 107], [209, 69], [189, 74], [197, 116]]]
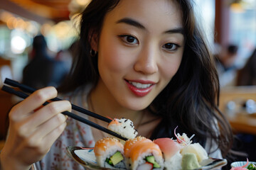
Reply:
[[46, 137], [50, 132], [57, 129], [60, 125], [65, 123], [67, 117], [62, 113], [58, 113], [53, 118], [48, 120], [46, 123], [43, 123], [38, 127], [37, 130], [33, 132], [33, 135], [28, 137], [28, 146], [36, 147], [38, 144], [41, 143], [42, 139]]

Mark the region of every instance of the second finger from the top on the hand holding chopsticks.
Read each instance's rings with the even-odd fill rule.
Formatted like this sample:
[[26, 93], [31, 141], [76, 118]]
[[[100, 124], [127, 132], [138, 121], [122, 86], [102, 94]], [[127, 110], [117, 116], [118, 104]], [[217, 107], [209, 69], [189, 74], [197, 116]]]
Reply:
[[[38, 128], [40, 129], [42, 125], [46, 124], [49, 120], [51, 120], [55, 115], [58, 115], [64, 111], [71, 111], [71, 104], [69, 101], [55, 101], [49, 103], [47, 106], [44, 106], [40, 110], [33, 113], [27, 120], [23, 120], [23, 124], [19, 128], [19, 133], [23, 137], [28, 137], [32, 135]], [[55, 117], [55, 119], [66, 118], [65, 115], [60, 114], [59, 117]], [[50, 123], [58, 125], [58, 123], [63, 123], [63, 121], [53, 122]], [[48, 128], [51, 128], [49, 123]], [[47, 128], [47, 127], [46, 127]], [[40, 134], [40, 133], [39, 133]]]

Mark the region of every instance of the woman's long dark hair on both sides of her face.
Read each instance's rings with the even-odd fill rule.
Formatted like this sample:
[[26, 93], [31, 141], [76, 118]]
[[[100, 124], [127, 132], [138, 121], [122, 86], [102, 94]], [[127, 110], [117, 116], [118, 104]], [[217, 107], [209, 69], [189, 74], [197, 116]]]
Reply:
[[[214, 59], [196, 24], [191, 0], [176, 2], [182, 11], [186, 45], [178, 72], [148, 107], [151, 113], [163, 118], [151, 139], [174, 137], [174, 128], [178, 125], [181, 132], [195, 134], [193, 140], [202, 145], [207, 137], [215, 141], [224, 156], [232, 145], [233, 136], [228, 121], [218, 110], [220, 89]], [[106, 13], [118, 3], [119, 0], [92, 0], [83, 11], [79, 54], [75, 57], [68, 79], [60, 86], [60, 91], [73, 91], [89, 83], [97, 84], [97, 57], [90, 56], [90, 35], [96, 33], [100, 36]]]

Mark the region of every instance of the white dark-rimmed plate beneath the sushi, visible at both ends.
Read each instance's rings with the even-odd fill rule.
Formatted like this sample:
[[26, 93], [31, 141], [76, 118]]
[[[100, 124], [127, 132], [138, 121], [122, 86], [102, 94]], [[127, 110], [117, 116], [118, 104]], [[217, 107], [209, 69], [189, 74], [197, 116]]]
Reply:
[[[97, 164], [95, 154], [93, 151], [93, 148], [83, 148], [83, 147], [67, 147], [68, 154], [70, 154], [70, 157], [75, 159], [76, 162], [81, 164], [82, 166], [85, 166], [87, 169], [91, 170], [97, 170], [97, 169], [104, 169], [107, 170], [107, 168], [101, 167]], [[213, 169], [220, 169], [222, 166], [225, 166], [227, 164], [226, 159], [214, 159], [209, 158], [203, 160], [201, 163], [202, 166], [198, 169], [193, 170], [213, 170]]]

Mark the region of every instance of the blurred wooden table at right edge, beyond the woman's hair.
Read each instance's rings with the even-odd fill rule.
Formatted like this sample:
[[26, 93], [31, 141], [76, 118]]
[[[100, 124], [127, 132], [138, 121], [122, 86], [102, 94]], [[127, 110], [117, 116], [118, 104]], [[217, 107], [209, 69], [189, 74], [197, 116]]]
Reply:
[[[220, 89], [220, 111], [222, 111], [235, 133], [243, 132], [256, 135], [256, 113], [241, 111], [241, 106], [248, 99], [256, 101], [256, 86], [233, 86]], [[228, 111], [228, 103], [233, 103], [234, 113]], [[240, 105], [240, 106], [239, 106]]]

